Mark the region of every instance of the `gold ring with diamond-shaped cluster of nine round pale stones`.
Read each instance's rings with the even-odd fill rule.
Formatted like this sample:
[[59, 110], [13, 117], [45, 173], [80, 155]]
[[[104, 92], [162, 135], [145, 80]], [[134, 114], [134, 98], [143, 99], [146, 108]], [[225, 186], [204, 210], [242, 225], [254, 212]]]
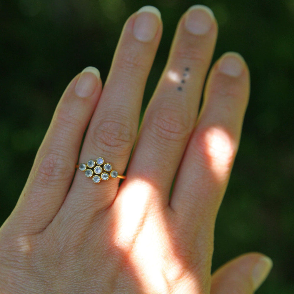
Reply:
[[90, 159], [87, 163], [77, 164], [76, 168], [85, 172], [87, 178], [92, 178], [92, 181], [97, 184], [101, 180], [107, 181], [109, 178], [121, 178], [125, 179], [125, 176], [121, 176], [115, 169], [112, 169], [110, 163], [104, 163], [102, 157], [98, 157], [96, 160]]

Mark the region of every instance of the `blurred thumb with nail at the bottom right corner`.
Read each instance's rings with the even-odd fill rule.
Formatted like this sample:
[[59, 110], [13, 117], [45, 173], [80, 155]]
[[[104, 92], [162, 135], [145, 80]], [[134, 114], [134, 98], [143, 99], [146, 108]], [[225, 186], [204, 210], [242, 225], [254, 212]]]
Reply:
[[211, 294], [252, 294], [264, 282], [273, 266], [260, 253], [246, 253], [230, 260], [212, 275]]

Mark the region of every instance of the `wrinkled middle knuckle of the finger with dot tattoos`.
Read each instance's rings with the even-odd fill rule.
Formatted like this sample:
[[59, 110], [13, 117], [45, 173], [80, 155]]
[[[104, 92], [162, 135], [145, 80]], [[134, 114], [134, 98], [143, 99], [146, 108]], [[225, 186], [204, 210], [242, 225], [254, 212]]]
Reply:
[[187, 113], [168, 108], [158, 108], [148, 121], [153, 136], [166, 141], [185, 140], [192, 126]]

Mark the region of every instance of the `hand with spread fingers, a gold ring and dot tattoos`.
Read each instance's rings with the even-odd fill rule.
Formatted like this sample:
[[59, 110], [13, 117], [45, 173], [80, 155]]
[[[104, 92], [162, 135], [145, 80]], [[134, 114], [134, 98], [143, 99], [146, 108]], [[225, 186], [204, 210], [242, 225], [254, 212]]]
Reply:
[[[212, 66], [198, 114], [217, 24], [193, 6], [137, 135], [161, 33], [159, 11], [140, 9], [126, 21], [103, 90], [93, 67], [66, 88], [0, 230], [1, 293], [249, 294], [267, 276], [271, 261], [260, 253], [211, 276], [214, 224], [248, 103], [245, 61], [226, 53]], [[75, 174], [77, 162], [98, 156], [122, 174], [135, 140], [120, 187]]]

